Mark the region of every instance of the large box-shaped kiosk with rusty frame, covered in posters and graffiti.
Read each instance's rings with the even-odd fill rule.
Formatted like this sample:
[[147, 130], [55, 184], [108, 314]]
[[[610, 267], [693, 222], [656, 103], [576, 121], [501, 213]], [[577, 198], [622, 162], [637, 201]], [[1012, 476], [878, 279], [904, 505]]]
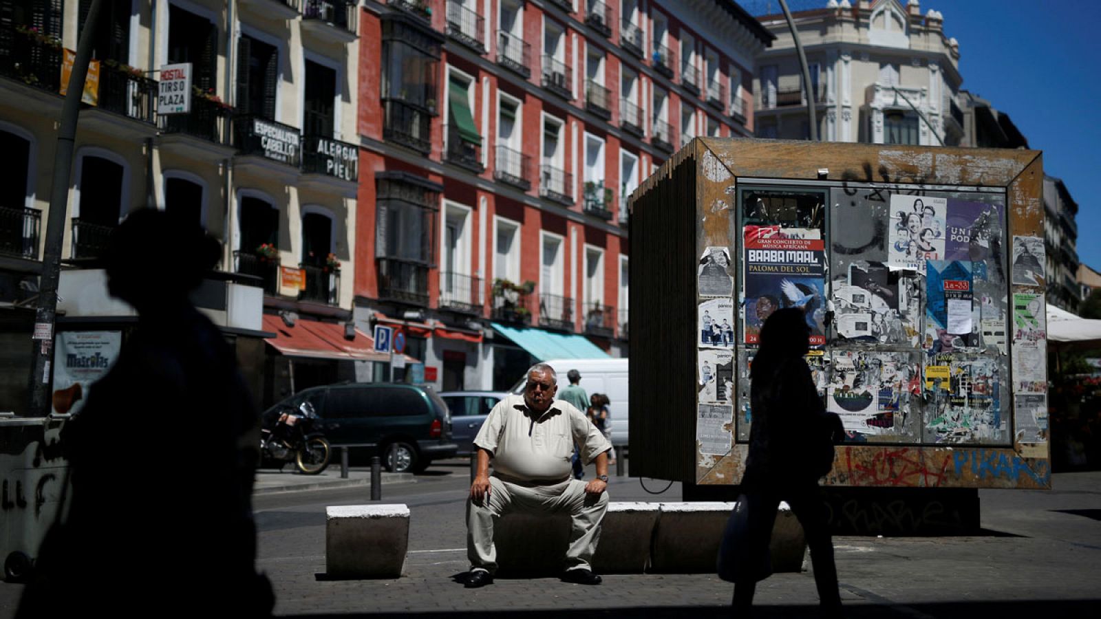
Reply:
[[[802, 307], [825, 485], [1049, 488], [1038, 151], [696, 139], [631, 196], [631, 474], [737, 486]], [[975, 499], [977, 501], [977, 499]]]

